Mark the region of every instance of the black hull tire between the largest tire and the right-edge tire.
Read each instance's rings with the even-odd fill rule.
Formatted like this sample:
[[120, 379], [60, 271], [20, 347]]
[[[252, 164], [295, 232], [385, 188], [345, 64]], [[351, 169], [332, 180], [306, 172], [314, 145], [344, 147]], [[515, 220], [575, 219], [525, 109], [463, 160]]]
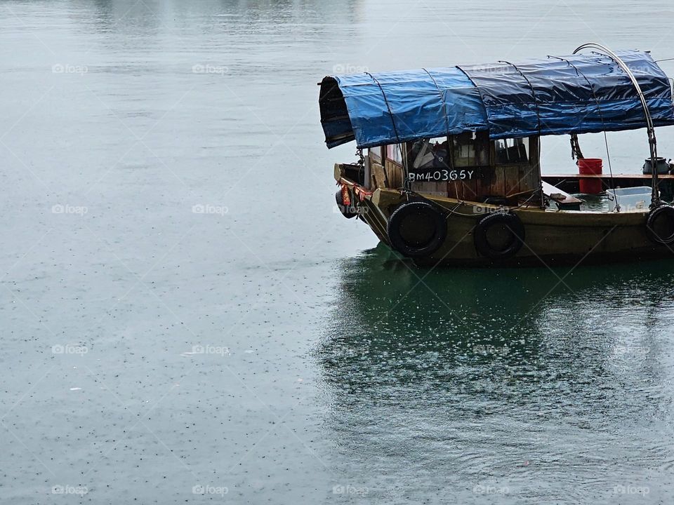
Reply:
[[[498, 247], [489, 240], [489, 230], [495, 226], [500, 226], [509, 235], [502, 247]], [[475, 225], [473, 240], [475, 250], [480, 255], [495, 261], [508, 260], [515, 256], [524, 244], [524, 224], [515, 214], [487, 214]]]

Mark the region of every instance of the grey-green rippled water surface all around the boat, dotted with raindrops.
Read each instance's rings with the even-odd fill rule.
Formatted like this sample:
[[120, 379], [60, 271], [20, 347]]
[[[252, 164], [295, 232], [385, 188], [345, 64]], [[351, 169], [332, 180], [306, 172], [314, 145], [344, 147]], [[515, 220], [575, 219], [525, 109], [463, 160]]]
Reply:
[[[316, 86], [587, 41], [673, 58], [669, 1], [0, 13], [3, 502], [671, 502], [672, 264], [415, 269], [335, 212], [355, 148], [325, 149]], [[645, 140], [609, 134], [614, 170]]]

